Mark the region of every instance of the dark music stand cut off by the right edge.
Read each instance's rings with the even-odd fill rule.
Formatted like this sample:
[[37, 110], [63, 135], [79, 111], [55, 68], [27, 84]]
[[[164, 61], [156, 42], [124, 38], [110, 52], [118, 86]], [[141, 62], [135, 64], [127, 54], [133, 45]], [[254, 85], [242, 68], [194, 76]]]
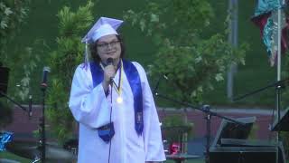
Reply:
[[275, 120], [271, 130], [272, 131], [289, 131], [289, 108], [284, 110], [284, 114], [280, 117], [280, 121]]

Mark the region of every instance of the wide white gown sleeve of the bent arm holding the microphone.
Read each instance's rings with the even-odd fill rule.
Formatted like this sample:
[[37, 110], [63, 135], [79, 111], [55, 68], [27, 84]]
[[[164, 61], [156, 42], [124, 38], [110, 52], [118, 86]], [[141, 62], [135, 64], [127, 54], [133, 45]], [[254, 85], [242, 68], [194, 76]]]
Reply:
[[102, 84], [93, 88], [90, 68], [79, 65], [70, 91], [70, 110], [75, 120], [89, 128], [99, 128], [109, 122], [109, 103]]

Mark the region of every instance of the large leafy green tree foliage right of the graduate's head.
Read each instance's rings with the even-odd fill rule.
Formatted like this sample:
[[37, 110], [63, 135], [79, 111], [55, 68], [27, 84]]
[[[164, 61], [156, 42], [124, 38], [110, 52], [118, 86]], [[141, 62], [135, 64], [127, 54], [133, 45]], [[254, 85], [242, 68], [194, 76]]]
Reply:
[[142, 11], [128, 10], [124, 16], [158, 48], [149, 73], [169, 77], [172, 97], [199, 103], [204, 91], [223, 81], [228, 65], [245, 64], [246, 44], [232, 48], [225, 28], [223, 34], [207, 33], [214, 18], [208, 0], [147, 1]]

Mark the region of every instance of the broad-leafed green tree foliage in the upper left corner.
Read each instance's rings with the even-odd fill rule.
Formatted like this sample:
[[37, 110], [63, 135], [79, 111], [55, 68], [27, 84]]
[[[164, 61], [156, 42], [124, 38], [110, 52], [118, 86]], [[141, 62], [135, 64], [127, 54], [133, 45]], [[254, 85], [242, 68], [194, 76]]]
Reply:
[[39, 64], [39, 53], [45, 45], [37, 40], [34, 46], [42, 44], [42, 49], [23, 47], [14, 44], [15, 36], [20, 33], [22, 25], [29, 15], [30, 0], [4, 0], [0, 2], [0, 62], [10, 68], [9, 92], [13, 97], [24, 101], [31, 93], [31, 75]]

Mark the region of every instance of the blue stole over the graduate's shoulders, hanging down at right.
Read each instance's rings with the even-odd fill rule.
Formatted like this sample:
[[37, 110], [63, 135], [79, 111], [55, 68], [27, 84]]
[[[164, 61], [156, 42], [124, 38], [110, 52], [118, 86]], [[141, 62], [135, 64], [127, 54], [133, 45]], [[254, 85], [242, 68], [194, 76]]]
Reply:
[[[132, 62], [122, 60], [127, 81], [134, 95], [135, 110], [135, 131], [140, 136], [144, 129], [143, 117], [143, 90], [139, 73]], [[103, 81], [103, 70], [99, 63], [90, 62], [90, 72], [93, 80], [93, 87], [96, 87]], [[119, 79], [120, 80], [120, 79]]]

